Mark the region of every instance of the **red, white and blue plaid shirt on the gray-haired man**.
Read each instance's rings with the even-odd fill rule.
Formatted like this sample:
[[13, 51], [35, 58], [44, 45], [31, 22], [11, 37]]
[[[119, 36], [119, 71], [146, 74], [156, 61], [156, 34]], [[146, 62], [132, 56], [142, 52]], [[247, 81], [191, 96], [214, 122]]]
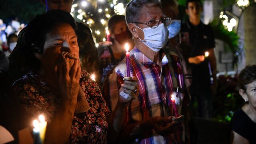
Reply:
[[[161, 66], [147, 58], [138, 48], [130, 51], [130, 74], [138, 78], [138, 98], [126, 108], [124, 127], [132, 120], [141, 121], [153, 116], [174, 115], [171, 95], [174, 92], [173, 78], [182, 74], [178, 56], [171, 55], [175, 76], [172, 76], [168, 59], [163, 54]], [[114, 110], [118, 102], [118, 91], [127, 76], [126, 58], [124, 58], [107, 76], [103, 87], [103, 95], [110, 110]], [[180, 85], [178, 79], [176, 79]], [[182, 80], [183, 81], [183, 80]], [[183, 82], [181, 82], [183, 84]], [[182, 86], [183, 87], [183, 86]], [[182, 143], [182, 127], [175, 134], [166, 137], [156, 134], [154, 130], [146, 132], [147, 138], [139, 139], [141, 144], [173, 144]]]

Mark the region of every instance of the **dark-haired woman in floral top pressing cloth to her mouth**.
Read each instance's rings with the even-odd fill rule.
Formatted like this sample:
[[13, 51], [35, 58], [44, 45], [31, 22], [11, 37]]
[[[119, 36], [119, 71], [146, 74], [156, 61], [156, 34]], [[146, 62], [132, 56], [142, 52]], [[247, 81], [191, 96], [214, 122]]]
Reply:
[[[26, 27], [26, 49], [17, 50], [31, 69], [14, 82], [19, 99], [21, 128], [43, 114], [47, 128], [44, 143], [106, 144], [119, 131], [120, 116], [135, 98], [137, 82], [128, 80], [116, 110], [110, 114], [97, 83], [80, 68], [76, 23], [64, 11], [52, 10], [37, 16]], [[135, 92], [134, 92], [135, 91]]]

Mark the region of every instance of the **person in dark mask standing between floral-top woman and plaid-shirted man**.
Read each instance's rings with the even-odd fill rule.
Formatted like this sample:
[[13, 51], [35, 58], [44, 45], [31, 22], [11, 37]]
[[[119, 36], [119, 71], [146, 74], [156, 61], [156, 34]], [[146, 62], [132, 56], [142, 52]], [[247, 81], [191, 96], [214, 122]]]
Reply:
[[102, 64], [101, 83], [104, 82], [108, 72], [124, 58], [126, 52], [124, 44], [132, 38], [132, 34], [126, 25], [124, 15], [115, 14], [111, 16], [108, 20], [108, 30], [111, 43], [102, 42], [98, 48], [98, 54]]

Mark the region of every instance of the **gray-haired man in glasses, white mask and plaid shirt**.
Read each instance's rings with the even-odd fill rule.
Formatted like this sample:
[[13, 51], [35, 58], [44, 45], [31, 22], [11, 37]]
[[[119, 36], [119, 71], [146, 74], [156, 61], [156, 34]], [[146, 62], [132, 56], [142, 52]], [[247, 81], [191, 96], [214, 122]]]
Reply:
[[[186, 111], [180, 94], [184, 87], [183, 75], [178, 57], [161, 50], [168, 42], [166, 26], [171, 24], [171, 19], [166, 18], [158, 0], [132, 0], [126, 6], [126, 23], [135, 40], [128, 72], [138, 79], [138, 90], [135, 90], [138, 97], [127, 104], [124, 111], [116, 113], [123, 117], [123, 124], [115, 129], [117, 141], [183, 143], [183, 120], [173, 117]], [[118, 107], [118, 90], [126, 76], [124, 58], [107, 76], [103, 87], [104, 98], [112, 111]]]

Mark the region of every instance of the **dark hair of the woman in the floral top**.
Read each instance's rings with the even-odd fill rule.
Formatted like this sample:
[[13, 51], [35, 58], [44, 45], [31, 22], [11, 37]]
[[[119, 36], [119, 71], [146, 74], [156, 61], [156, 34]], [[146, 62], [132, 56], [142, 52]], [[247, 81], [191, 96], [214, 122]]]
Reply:
[[68, 12], [50, 10], [36, 16], [19, 34], [18, 42], [10, 55], [9, 76], [14, 82], [30, 70], [39, 70], [40, 60], [34, 53], [44, 52], [46, 34], [58, 24], [70, 24], [76, 32], [76, 22]]

